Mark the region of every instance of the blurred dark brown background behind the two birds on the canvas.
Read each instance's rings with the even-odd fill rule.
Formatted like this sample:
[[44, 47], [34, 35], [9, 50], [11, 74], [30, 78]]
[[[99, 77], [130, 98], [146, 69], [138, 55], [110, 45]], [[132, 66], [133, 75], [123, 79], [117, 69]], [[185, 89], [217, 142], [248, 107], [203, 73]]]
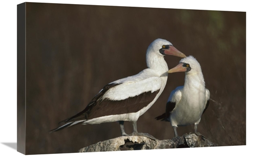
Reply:
[[[211, 100], [198, 131], [220, 146], [246, 144], [245, 12], [27, 3], [26, 15], [27, 154], [77, 152], [119, 137], [115, 122], [48, 130], [83, 110], [104, 85], [145, 69], [147, 46], [157, 38], [202, 66]], [[180, 58], [165, 60], [172, 68]], [[161, 96], [139, 118], [139, 132], [174, 137], [168, 122], [154, 118], [183, 83], [184, 73], [169, 74]], [[132, 133], [132, 124], [124, 125]], [[178, 134], [193, 127], [178, 127]]]

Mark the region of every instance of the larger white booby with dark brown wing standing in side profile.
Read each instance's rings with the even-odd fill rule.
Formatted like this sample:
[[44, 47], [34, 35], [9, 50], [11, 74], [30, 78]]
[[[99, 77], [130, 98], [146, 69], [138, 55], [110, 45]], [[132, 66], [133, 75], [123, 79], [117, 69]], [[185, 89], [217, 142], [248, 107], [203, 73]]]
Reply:
[[156, 39], [146, 50], [147, 69], [104, 86], [83, 111], [61, 121], [66, 124], [49, 132], [75, 124], [119, 121], [122, 136], [127, 136], [123, 123], [132, 121], [132, 135], [147, 136], [148, 134], [138, 133], [137, 120], [150, 109], [166, 85], [168, 66], [164, 60], [165, 55], [186, 57], [169, 41]]

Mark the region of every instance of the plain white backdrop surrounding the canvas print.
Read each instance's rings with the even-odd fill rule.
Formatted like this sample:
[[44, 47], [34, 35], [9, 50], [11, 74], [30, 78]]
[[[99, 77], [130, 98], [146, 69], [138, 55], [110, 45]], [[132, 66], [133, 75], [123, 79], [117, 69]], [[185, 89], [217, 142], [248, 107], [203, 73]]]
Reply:
[[[4, 156], [21, 156], [11, 147], [3, 143], [15, 143], [17, 139], [16, 128], [16, 21], [17, 4], [25, 1], [4, 1], [0, 5], [1, 33], [0, 33], [0, 154]], [[41, 154], [40, 156], [99, 156], [99, 155], [184, 155], [189, 156], [207, 155], [246, 155], [253, 150], [253, 138], [255, 120], [252, 115], [255, 111], [255, 102], [252, 101], [255, 91], [255, 5], [253, 1], [33, 1], [40, 3], [60, 3], [60, 4], [87, 4], [87, 5], [107, 5], [107, 6], [130, 6], [130, 7], [152, 7], [152, 8], [175, 8], [175, 9], [199, 9], [199, 10], [221, 10], [221, 11], [243, 11], [246, 12], [246, 146], [225, 146], [215, 148], [194, 148], [194, 149], [162, 149], [148, 151], [126, 151], [123, 152], [97, 152], [97, 153], [66, 153], [66, 154]], [[253, 63], [253, 64], [252, 64]], [[255, 134], [255, 133], [254, 133]], [[189, 152], [189, 153], [188, 153]], [[104, 153], [104, 154], [102, 154]], [[37, 156], [37, 155], [35, 155]]]

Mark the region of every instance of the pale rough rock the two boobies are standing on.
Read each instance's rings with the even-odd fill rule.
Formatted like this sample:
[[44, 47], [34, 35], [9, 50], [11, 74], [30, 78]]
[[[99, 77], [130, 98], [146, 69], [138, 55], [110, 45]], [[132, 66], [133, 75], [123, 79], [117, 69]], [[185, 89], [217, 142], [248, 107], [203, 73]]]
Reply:
[[182, 147], [211, 147], [218, 146], [210, 142], [201, 134], [184, 134], [169, 140], [152, 140], [142, 136], [121, 136], [118, 138], [98, 142], [84, 147], [78, 152], [119, 151], [119, 150], [145, 150], [166, 149]]

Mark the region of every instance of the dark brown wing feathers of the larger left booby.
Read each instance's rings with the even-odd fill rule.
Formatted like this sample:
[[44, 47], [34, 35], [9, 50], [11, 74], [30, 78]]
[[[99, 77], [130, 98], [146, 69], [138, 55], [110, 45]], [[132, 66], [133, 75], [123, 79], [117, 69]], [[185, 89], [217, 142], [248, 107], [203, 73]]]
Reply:
[[91, 100], [86, 109], [79, 112], [75, 116], [72, 116], [62, 122], [71, 122], [82, 119], [93, 119], [108, 115], [117, 115], [125, 113], [135, 113], [146, 107], [147, 104], [152, 102], [156, 97], [159, 90], [151, 93], [151, 91], [141, 93], [140, 95], [130, 97], [124, 100], [111, 100], [103, 99], [102, 96], [110, 88], [117, 86], [118, 84], [108, 84]]

